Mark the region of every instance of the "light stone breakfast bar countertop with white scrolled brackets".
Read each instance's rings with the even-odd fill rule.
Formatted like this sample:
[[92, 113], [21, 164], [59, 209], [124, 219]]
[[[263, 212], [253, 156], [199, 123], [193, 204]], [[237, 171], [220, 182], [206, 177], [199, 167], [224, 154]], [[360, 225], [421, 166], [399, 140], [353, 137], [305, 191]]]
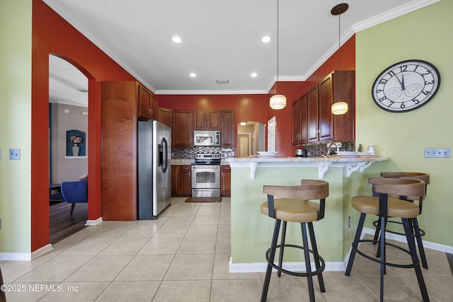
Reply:
[[323, 179], [328, 168], [343, 167], [346, 176], [360, 170], [362, 173], [372, 163], [388, 161], [384, 156], [363, 156], [357, 158], [345, 158], [340, 156], [329, 157], [275, 157], [275, 158], [226, 158], [231, 168], [250, 168], [250, 178], [255, 179], [256, 168], [314, 168], [319, 171], [319, 179]]

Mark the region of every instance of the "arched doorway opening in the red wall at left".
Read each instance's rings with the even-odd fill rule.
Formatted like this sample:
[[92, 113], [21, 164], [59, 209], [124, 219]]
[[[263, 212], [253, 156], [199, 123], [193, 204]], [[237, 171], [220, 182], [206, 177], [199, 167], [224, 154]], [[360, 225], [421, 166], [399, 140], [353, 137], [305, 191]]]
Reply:
[[[75, 156], [67, 137], [73, 132], [80, 133], [83, 140]], [[71, 204], [64, 202], [59, 192], [61, 182], [78, 181], [88, 173], [88, 78], [66, 59], [52, 54], [49, 55], [49, 142], [50, 243], [55, 244], [84, 228], [88, 219], [88, 204], [77, 204], [70, 214]]]

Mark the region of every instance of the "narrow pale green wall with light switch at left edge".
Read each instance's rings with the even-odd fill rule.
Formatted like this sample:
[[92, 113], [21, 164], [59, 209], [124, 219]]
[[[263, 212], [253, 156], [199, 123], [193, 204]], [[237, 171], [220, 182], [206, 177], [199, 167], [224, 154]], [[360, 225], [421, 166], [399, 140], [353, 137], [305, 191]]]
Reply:
[[31, 249], [31, 15], [32, 0], [0, 1], [1, 252]]

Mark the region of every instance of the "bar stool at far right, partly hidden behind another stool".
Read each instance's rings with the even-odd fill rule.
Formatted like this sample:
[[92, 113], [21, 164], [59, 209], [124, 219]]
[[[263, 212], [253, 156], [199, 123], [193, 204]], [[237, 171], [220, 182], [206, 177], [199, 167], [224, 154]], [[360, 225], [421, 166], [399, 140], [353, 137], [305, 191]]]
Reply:
[[[425, 182], [425, 195], [428, 189], [428, 185], [430, 184], [430, 175], [426, 173], [419, 173], [419, 172], [382, 172], [381, 176], [383, 178], [411, 178], [415, 180], [423, 180]], [[423, 196], [423, 199], [425, 199], [426, 196]], [[415, 200], [418, 200], [418, 197], [411, 197], [411, 196], [406, 196], [406, 197], [401, 197], [401, 199], [407, 200], [408, 202], [414, 202]], [[420, 214], [422, 214], [422, 207], [423, 207], [423, 199], [420, 200], [420, 203], [418, 204], [418, 209], [420, 209]], [[417, 221], [413, 221], [414, 223], [417, 223]], [[398, 223], [402, 224], [401, 221], [393, 221], [386, 219], [386, 223]], [[376, 231], [374, 233], [374, 243], [378, 242], [379, 238], [379, 233], [381, 231], [381, 223], [380, 219], [373, 221], [373, 225], [376, 227]], [[418, 245], [418, 252], [420, 253], [420, 260], [422, 262], [422, 266], [425, 269], [428, 269], [428, 262], [426, 261], [426, 255], [425, 255], [425, 249], [423, 248], [423, 241], [422, 241], [422, 236], [425, 236], [425, 231], [423, 231], [421, 228], [417, 226], [417, 229], [419, 231], [415, 231], [415, 226], [411, 226], [413, 228], [413, 236], [415, 236], [415, 239], [417, 240], [417, 245]], [[396, 232], [396, 231], [389, 231], [388, 229], [385, 230], [386, 232], [389, 233], [394, 233], [397, 235], [403, 235], [404, 233], [401, 232]], [[377, 250], [377, 257], [379, 257], [379, 248]]]

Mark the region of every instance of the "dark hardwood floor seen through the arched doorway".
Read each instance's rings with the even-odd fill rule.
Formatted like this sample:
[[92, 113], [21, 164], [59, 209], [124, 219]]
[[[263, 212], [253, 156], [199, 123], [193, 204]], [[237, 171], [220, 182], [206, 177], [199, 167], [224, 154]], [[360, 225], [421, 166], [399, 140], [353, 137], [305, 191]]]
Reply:
[[86, 228], [88, 204], [76, 204], [72, 215], [69, 215], [70, 212], [71, 204], [64, 201], [50, 202], [50, 244], [55, 244]]

